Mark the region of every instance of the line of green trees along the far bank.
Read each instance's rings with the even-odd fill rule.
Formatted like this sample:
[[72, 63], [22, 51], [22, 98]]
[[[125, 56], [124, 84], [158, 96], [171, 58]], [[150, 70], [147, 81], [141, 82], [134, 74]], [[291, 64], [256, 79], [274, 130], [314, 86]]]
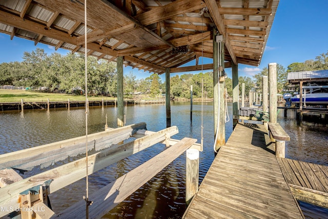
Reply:
[[[84, 54], [67, 53], [48, 55], [43, 49], [37, 48], [32, 52], [24, 52], [22, 62], [0, 64], [0, 85], [18, 87], [42, 88], [49, 92], [65, 92], [81, 94], [85, 89]], [[278, 92], [288, 86], [288, 72], [328, 69], [328, 52], [322, 53], [315, 60], [304, 63], [292, 63], [288, 69], [277, 65]], [[116, 63], [88, 56], [88, 92], [90, 95], [116, 96]], [[255, 74], [253, 78], [239, 76], [239, 90], [245, 84], [245, 94], [251, 89], [262, 89], [262, 76], [268, 75], [268, 67]], [[190, 98], [190, 87], [193, 86], [193, 97], [213, 98], [213, 72], [198, 74], [175, 75], [170, 78], [171, 97]], [[226, 78], [229, 96], [232, 96], [232, 79]], [[150, 97], [159, 97], [165, 93], [165, 83], [157, 74], [147, 78], [136, 79], [130, 72], [124, 75], [124, 93], [127, 97], [142, 93]]]

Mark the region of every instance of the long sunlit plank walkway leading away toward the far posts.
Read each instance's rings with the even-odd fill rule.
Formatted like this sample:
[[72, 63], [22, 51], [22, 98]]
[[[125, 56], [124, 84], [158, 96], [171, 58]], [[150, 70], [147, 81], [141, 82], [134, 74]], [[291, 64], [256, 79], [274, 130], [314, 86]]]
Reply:
[[303, 218], [262, 125], [237, 124], [184, 218]]

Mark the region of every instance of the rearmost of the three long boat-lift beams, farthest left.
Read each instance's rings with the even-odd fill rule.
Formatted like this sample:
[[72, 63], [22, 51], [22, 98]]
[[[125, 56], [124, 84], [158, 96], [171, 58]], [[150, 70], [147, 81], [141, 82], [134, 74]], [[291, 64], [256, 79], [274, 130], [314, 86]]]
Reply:
[[[108, 131], [98, 132], [88, 135], [88, 148], [101, 150], [117, 144], [129, 136], [136, 133], [139, 129], [145, 129], [146, 123], [137, 123]], [[67, 156], [74, 156], [84, 153], [86, 150], [86, 137], [80, 136], [68, 140], [28, 148], [25, 150], [14, 151], [0, 155], [0, 169], [15, 167], [28, 170], [34, 166], [46, 163], [52, 164], [60, 159], [64, 160]], [[63, 158], [64, 157], [64, 158]]]

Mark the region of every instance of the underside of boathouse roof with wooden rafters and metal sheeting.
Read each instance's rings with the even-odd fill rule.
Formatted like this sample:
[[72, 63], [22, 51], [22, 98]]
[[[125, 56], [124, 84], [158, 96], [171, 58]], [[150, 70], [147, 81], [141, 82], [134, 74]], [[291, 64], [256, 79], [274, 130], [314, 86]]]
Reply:
[[[279, 0], [93, 0], [87, 13], [87, 54], [139, 70], [199, 70], [213, 58], [213, 27], [223, 35], [224, 61], [258, 66]], [[85, 52], [84, 3], [77, 0], [0, 1], [0, 32]], [[195, 65], [178, 68], [196, 59]], [[204, 65], [213, 69], [213, 64]]]

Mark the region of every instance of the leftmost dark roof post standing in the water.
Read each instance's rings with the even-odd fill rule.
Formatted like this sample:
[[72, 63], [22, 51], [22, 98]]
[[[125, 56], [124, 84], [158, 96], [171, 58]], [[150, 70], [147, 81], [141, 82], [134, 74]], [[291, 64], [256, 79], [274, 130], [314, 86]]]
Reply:
[[124, 126], [123, 57], [117, 57], [117, 127]]

